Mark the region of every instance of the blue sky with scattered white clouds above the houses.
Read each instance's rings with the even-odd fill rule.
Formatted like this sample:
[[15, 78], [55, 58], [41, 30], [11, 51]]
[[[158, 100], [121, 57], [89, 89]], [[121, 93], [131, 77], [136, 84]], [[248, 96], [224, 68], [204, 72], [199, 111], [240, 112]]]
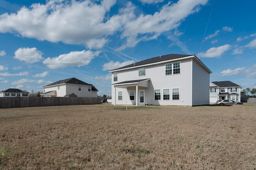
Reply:
[[[256, 88], [256, 2], [238, 0], [0, 0], [0, 90], [42, 91], [76, 77], [111, 95], [110, 69], [191, 54]], [[207, 29], [206, 29], [207, 28]]]

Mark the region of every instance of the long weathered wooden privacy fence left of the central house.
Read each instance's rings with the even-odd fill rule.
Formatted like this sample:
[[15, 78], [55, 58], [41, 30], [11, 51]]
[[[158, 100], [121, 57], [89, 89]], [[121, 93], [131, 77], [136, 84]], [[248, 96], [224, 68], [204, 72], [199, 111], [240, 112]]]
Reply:
[[0, 97], [1, 109], [100, 103], [100, 97]]

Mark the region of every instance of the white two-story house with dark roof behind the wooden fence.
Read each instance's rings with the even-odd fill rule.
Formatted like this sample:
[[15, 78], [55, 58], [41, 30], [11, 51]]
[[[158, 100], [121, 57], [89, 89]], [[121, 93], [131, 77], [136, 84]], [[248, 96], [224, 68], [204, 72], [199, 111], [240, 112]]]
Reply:
[[97, 97], [97, 89], [76, 78], [59, 80], [43, 87], [43, 97]]

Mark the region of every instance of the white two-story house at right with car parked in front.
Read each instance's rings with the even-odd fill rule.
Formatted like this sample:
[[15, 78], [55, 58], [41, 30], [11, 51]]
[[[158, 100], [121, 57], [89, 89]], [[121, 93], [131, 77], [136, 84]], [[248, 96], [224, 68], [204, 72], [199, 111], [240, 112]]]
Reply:
[[240, 102], [241, 88], [241, 86], [231, 81], [210, 82], [210, 104], [224, 99]]

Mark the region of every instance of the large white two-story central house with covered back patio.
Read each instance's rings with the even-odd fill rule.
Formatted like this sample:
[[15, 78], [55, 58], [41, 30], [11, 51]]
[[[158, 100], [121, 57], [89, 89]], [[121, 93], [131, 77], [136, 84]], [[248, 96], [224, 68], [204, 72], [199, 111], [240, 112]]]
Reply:
[[149, 58], [112, 73], [112, 104], [209, 104], [210, 69], [195, 55]]

